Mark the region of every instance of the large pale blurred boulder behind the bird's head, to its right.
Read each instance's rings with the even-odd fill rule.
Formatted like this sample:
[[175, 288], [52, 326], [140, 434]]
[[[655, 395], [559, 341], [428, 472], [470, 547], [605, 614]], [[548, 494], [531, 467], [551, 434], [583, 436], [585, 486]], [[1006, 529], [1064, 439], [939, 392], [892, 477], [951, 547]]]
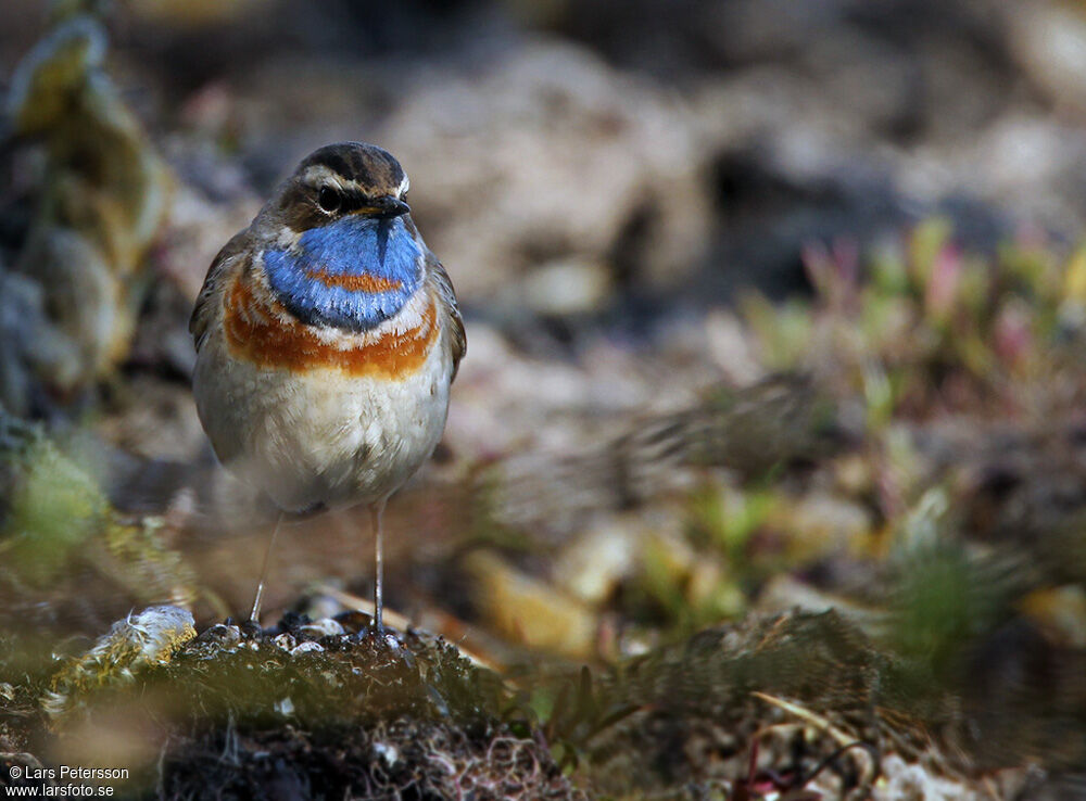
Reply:
[[[689, 112], [580, 48], [536, 40], [481, 74], [427, 72], [375, 138], [412, 176], [419, 226], [468, 305], [567, 260], [670, 287], [706, 241], [707, 154]], [[598, 280], [578, 306], [598, 303]]]

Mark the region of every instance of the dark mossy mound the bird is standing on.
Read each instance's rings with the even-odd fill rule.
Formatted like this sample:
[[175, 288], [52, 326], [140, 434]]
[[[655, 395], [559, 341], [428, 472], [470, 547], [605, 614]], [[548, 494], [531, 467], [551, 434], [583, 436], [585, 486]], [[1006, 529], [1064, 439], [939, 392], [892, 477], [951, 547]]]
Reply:
[[220, 624], [123, 679], [62, 679], [50, 761], [117, 764], [132, 743], [126, 798], [582, 797], [496, 674], [361, 618]]

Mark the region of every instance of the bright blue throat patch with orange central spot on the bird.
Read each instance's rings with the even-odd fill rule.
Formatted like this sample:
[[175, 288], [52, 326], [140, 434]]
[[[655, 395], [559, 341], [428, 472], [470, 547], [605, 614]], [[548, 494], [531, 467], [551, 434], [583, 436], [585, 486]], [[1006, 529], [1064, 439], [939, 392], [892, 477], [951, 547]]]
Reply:
[[302, 322], [366, 331], [394, 316], [422, 280], [422, 249], [402, 217], [351, 215], [264, 251], [279, 301]]

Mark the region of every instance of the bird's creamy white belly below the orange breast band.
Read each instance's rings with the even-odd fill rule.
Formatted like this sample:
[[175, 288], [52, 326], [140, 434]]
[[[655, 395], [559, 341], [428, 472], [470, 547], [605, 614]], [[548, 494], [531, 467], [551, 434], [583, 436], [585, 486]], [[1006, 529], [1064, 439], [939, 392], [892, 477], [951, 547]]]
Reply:
[[451, 373], [444, 335], [401, 380], [261, 368], [229, 358], [213, 335], [193, 392], [226, 467], [281, 509], [303, 511], [381, 500], [402, 486], [441, 438]]

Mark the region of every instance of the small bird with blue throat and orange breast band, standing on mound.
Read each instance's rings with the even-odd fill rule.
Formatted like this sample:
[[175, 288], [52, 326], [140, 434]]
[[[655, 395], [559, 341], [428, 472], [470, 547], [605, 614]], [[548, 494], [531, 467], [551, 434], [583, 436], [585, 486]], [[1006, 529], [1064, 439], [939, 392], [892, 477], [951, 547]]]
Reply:
[[467, 340], [452, 281], [388, 151], [317, 149], [212, 262], [189, 331], [197, 411], [223, 466], [285, 517], [366, 505], [372, 630], [383, 626], [382, 512], [430, 457]]

